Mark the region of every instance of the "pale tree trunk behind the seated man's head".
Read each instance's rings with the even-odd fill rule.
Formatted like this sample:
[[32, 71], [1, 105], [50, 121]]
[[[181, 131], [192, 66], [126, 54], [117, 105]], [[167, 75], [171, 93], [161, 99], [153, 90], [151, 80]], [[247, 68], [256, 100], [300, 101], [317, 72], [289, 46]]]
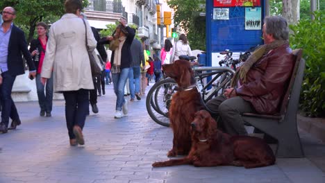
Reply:
[[288, 19], [289, 24], [297, 24], [300, 17], [300, 1], [283, 0], [282, 5], [282, 16], [285, 17], [285, 19]]

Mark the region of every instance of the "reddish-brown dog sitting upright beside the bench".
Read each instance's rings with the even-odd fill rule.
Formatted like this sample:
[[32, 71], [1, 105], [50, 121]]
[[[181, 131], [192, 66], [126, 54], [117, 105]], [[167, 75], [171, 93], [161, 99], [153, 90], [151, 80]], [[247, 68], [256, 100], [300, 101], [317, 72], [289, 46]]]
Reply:
[[194, 119], [194, 113], [204, 108], [200, 93], [197, 91], [194, 72], [187, 60], [164, 64], [163, 71], [165, 76], [173, 78], [178, 85], [177, 92], [172, 96], [168, 113], [174, 139], [173, 148], [169, 150], [167, 156], [188, 155], [192, 144], [190, 123]]

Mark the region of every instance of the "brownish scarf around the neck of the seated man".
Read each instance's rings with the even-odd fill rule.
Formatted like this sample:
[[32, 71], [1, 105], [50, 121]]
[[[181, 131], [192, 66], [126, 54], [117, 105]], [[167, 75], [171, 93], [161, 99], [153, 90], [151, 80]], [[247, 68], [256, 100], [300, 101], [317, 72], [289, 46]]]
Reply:
[[263, 44], [259, 46], [256, 51], [254, 51], [249, 58], [242, 64], [240, 69], [235, 72], [235, 76], [233, 76], [233, 80], [231, 80], [231, 87], [235, 87], [237, 85], [238, 80], [242, 80], [243, 83], [246, 82], [246, 75], [249, 69], [255, 64], [263, 55], [267, 55], [269, 51], [272, 49], [276, 49], [283, 44], [288, 44], [289, 42], [286, 40], [275, 40], [270, 44]]

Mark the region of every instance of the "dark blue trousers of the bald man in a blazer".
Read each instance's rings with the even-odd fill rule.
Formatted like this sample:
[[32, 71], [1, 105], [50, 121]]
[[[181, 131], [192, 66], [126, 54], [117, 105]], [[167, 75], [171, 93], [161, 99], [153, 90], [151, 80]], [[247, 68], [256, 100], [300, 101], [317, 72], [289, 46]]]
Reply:
[[0, 98], [1, 98], [1, 123], [8, 128], [9, 117], [12, 120], [19, 119], [16, 105], [11, 98], [11, 91], [16, 76], [10, 75], [8, 71], [1, 73], [2, 85], [0, 85]]

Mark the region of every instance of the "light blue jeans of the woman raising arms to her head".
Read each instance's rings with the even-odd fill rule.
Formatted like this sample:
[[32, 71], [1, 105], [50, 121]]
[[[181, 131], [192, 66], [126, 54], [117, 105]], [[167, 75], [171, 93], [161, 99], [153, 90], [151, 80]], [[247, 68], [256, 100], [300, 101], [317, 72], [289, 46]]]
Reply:
[[117, 97], [115, 110], [122, 111], [124, 101], [124, 87], [128, 79], [130, 67], [121, 69], [119, 73], [112, 73], [114, 92]]

